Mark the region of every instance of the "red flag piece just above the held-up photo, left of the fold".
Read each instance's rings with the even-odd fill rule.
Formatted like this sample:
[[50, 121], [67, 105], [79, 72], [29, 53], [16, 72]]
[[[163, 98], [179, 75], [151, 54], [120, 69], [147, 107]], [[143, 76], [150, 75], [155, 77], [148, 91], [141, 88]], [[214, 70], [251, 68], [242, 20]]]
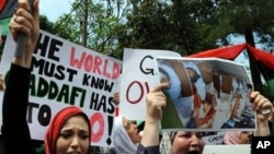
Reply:
[[202, 58], [202, 57], [217, 57], [228, 60], [235, 60], [243, 49], [246, 49], [247, 44], [220, 47], [217, 49], [210, 49], [195, 55], [190, 55], [187, 57]]

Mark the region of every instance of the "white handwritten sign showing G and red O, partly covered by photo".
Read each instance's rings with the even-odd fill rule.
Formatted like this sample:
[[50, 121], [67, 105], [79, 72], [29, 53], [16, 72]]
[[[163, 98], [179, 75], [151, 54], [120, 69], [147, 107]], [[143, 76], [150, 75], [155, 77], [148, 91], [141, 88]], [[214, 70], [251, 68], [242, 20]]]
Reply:
[[169, 50], [124, 50], [119, 115], [129, 119], [145, 119], [145, 96], [159, 83], [155, 60], [157, 56], [181, 57], [178, 52]]

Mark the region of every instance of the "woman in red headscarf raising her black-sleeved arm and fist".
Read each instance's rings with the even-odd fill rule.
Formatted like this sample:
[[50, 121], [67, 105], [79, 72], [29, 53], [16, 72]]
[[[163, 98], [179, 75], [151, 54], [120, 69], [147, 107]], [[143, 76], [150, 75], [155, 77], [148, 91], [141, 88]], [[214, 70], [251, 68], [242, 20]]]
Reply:
[[[39, 36], [38, 0], [32, 5], [27, 0], [18, 1], [10, 31], [16, 40], [20, 33], [26, 36], [22, 58], [11, 63], [2, 105], [2, 138], [7, 154], [37, 154], [26, 122], [32, 55]], [[87, 154], [90, 147], [89, 118], [78, 107], [61, 109], [53, 118], [45, 135], [46, 154]], [[20, 147], [16, 147], [20, 146]]]

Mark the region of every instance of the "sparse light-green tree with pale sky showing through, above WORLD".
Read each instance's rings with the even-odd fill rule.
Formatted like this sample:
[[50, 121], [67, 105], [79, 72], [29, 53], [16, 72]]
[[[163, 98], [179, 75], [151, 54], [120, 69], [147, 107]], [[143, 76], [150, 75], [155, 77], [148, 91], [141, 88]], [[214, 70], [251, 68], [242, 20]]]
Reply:
[[116, 54], [116, 31], [123, 22], [126, 8], [127, 4], [122, 0], [76, 0], [71, 13], [64, 14], [57, 20], [56, 35], [95, 51], [122, 58], [118, 57], [121, 54]]

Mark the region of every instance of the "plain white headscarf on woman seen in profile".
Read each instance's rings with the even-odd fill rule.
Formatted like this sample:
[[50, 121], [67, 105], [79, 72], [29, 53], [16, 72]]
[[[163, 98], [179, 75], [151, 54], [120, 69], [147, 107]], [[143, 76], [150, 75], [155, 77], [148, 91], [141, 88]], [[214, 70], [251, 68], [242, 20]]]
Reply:
[[134, 144], [123, 125], [123, 117], [115, 117], [112, 143], [116, 154], [135, 154], [138, 144]]

